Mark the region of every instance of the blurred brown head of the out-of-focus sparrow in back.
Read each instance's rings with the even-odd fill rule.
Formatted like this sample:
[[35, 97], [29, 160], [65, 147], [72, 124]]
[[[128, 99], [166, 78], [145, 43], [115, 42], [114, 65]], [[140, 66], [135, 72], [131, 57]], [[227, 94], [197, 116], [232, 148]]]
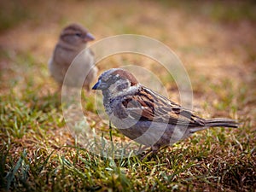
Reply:
[[61, 41], [75, 46], [84, 46], [84, 44], [94, 39], [93, 35], [84, 26], [77, 23], [65, 27], [60, 36]]

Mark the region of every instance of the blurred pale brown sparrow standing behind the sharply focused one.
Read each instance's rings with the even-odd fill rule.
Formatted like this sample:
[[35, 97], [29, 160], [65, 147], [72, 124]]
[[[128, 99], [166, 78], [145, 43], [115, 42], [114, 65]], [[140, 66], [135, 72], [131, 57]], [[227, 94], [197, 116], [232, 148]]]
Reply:
[[[98, 69], [94, 66], [93, 52], [85, 48], [87, 42], [94, 39], [90, 32], [76, 23], [62, 30], [59, 41], [55, 45], [53, 56], [49, 60], [49, 72], [56, 82], [71, 87], [77, 87], [79, 86], [78, 82], [83, 82], [83, 86], [89, 90], [90, 82], [96, 79]], [[84, 51], [81, 52], [82, 50]], [[77, 55], [79, 56], [75, 59]], [[67, 69], [73, 61], [72, 70], [65, 77]], [[86, 74], [86, 77], [84, 77], [84, 74]]]

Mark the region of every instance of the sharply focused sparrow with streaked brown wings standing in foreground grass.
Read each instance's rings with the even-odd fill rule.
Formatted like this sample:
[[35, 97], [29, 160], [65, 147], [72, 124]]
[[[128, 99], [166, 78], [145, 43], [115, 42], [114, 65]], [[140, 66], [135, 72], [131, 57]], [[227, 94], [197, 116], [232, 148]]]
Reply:
[[202, 119], [192, 111], [140, 84], [128, 71], [110, 69], [92, 90], [102, 90], [110, 121], [126, 137], [153, 152], [209, 127], [238, 127], [233, 119]]

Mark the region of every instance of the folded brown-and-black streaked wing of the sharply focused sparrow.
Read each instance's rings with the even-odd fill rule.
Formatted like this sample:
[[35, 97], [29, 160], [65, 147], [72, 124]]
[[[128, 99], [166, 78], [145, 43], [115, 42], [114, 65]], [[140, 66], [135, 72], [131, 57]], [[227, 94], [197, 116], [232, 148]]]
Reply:
[[122, 102], [127, 113], [133, 119], [154, 121], [172, 125], [203, 126], [204, 119], [192, 111], [182, 108], [164, 96], [142, 87], [137, 94], [125, 96]]

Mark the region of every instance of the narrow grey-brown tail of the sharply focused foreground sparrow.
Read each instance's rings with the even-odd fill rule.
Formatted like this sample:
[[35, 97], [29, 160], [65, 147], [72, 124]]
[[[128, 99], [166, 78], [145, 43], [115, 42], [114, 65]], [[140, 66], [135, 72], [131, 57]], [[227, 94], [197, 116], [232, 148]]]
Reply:
[[238, 128], [238, 125], [239, 125], [239, 123], [234, 119], [221, 119], [221, 118], [205, 119], [204, 123], [205, 123], [204, 126], [191, 128], [190, 132], [193, 133], [193, 132], [205, 130], [209, 127], [214, 127], [214, 126]]

